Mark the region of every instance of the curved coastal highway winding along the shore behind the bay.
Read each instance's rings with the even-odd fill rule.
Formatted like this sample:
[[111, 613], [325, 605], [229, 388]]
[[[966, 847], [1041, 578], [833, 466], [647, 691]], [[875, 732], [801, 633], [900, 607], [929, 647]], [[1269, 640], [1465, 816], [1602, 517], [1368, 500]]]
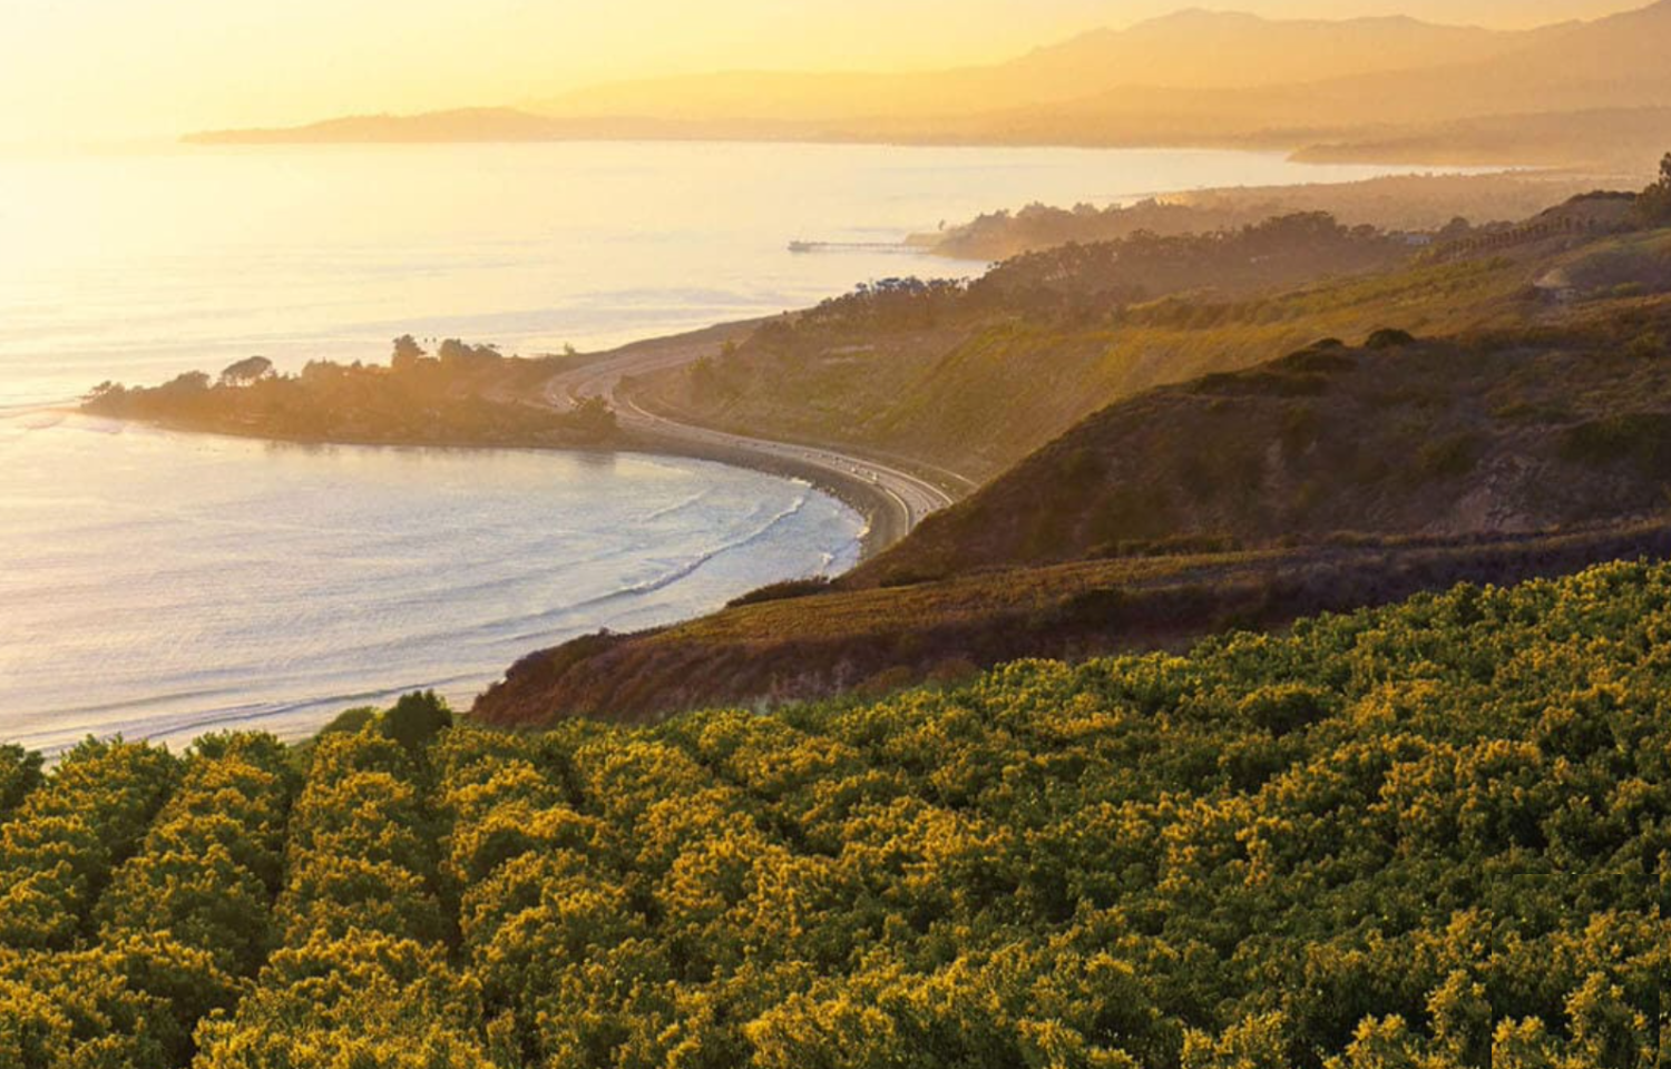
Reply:
[[[648, 448], [805, 478], [869, 514], [866, 555], [894, 545], [924, 516], [956, 499], [944, 486], [894, 464], [678, 423], [643, 409], [622, 393], [623, 379], [712, 356], [729, 336], [740, 332], [742, 327], [719, 327], [615, 349], [546, 379], [540, 401], [566, 411], [588, 398], [602, 398], [615, 409], [622, 429]], [[956, 473], [941, 474], [959, 494], [974, 489], [974, 483]]]

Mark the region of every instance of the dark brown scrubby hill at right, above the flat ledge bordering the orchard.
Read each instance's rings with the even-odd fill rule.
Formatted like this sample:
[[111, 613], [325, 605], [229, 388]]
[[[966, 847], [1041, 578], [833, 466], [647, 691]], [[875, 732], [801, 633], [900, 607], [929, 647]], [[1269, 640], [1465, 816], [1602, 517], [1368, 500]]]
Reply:
[[1115, 404], [847, 581], [1222, 538], [1482, 534], [1646, 514], [1671, 463], [1671, 302], [1559, 329], [1377, 336]]

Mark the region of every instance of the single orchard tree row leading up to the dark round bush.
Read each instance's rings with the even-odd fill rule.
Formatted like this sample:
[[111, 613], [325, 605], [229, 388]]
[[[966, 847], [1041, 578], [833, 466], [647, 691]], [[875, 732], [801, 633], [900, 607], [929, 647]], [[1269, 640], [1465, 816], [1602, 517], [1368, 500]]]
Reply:
[[291, 818], [282, 947], [196, 1066], [490, 1066], [475, 980], [443, 942], [426, 770], [374, 728], [328, 735]]

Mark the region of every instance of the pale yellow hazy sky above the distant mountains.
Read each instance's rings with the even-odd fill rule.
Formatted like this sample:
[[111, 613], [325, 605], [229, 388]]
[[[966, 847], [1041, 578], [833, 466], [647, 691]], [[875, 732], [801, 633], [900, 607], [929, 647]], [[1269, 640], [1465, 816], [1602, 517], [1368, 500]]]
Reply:
[[[1534, 25], [1648, 0], [1240, 0]], [[724, 67], [1003, 58], [1186, 0], [0, 0], [0, 144], [424, 110]]]

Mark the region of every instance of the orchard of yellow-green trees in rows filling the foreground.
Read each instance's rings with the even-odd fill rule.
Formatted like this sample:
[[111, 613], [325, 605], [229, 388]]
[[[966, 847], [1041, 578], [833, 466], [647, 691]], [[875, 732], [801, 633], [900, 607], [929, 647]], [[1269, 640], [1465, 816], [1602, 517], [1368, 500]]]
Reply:
[[1649, 1069], [1668, 628], [1614, 565], [655, 730], [89, 743], [0, 823], [0, 1064]]

